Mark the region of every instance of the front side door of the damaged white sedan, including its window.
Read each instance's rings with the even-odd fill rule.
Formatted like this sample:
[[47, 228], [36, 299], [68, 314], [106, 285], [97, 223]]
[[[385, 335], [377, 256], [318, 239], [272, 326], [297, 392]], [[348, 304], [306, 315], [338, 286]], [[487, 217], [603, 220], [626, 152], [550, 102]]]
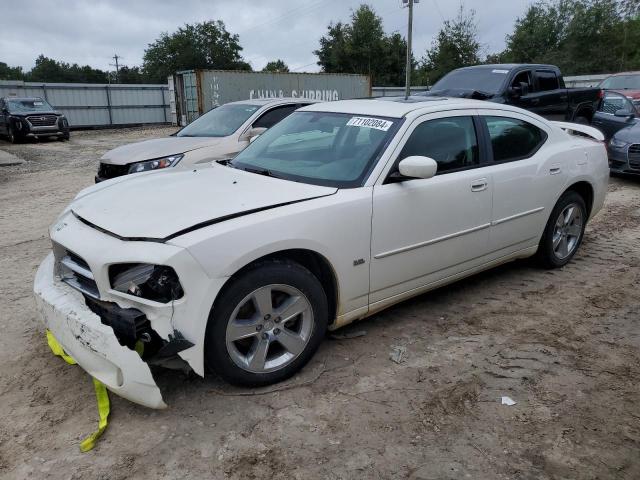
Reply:
[[421, 155], [438, 163], [436, 175], [401, 181], [386, 175], [375, 185], [371, 308], [473, 268], [487, 255], [493, 185], [475, 115], [416, 119], [396, 148], [389, 174], [403, 158]]

